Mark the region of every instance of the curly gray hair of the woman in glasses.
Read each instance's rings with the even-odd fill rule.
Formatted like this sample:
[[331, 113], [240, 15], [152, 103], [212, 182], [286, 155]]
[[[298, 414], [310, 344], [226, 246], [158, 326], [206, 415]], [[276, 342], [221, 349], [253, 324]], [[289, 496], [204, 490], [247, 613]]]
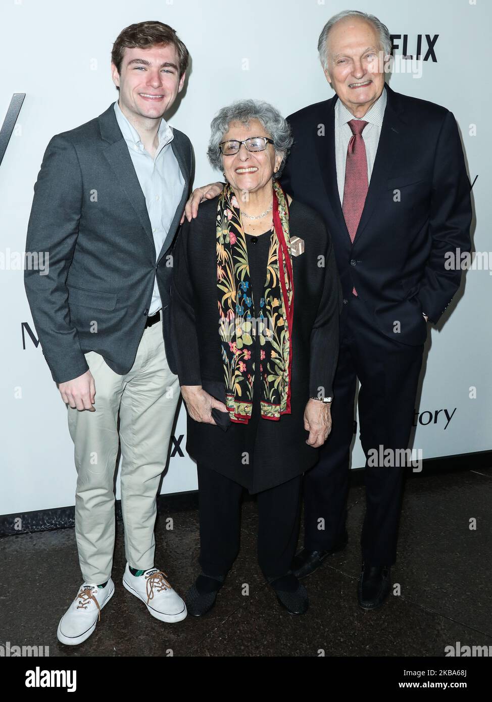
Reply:
[[211, 136], [208, 142], [207, 156], [213, 168], [222, 170], [222, 154], [219, 144], [222, 138], [229, 131], [232, 122], [243, 122], [249, 124], [251, 119], [258, 119], [266, 133], [274, 142], [274, 150], [277, 156], [282, 157], [282, 161], [275, 178], [279, 178], [288, 152], [292, 146], [291, 127], [288, 121], [281, 116], [280, 112], [262, 100], [237, 100], [232, 105], [222, 107], [211, 121]]

